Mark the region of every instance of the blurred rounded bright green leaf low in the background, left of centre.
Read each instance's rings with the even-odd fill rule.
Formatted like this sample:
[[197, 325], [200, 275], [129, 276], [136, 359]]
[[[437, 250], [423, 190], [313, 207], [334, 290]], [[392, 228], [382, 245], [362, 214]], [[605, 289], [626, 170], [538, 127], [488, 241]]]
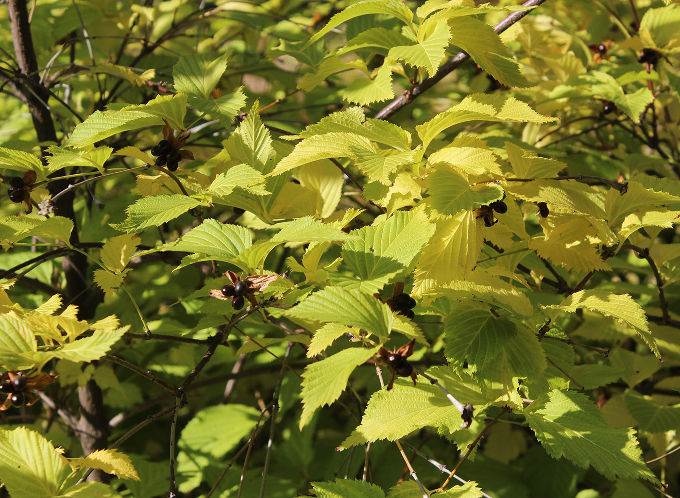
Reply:
[[[259, 410], [239, 404], [210, 406], [200, 410], [182, 430], [177, 446], [191, 454], [224, 457], [252, 431]], [[228, 431], [215, 430], [228, 422]]]

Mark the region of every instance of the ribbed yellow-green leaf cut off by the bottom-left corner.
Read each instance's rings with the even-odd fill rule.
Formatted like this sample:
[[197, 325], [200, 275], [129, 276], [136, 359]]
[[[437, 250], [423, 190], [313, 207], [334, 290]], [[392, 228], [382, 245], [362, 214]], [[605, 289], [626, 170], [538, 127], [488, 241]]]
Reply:
[[12, 498], [52, 498], [68, 474], [66, 459], [39, 433], [0, 429], [0, 480]]

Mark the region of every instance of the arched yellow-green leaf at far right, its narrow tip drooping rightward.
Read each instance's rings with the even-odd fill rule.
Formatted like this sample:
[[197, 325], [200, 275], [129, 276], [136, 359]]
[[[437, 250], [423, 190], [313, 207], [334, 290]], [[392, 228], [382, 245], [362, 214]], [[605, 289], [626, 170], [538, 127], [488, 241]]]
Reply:
[[645, 340], [652, 353], [657, 358], [660, 357], [656, 340], [654, 340], [651, 332], [649, 332], [647, 315], [645, 315], [645, 311], [630, 295], [617, 295], [607, 290], [590, 289], [575, 292], [562, 300], [558, 305], [543, 306], [543, 309], [552, 318], [557, 317], [560, 314], [560, 310], [574, 313], [579, 308], [597, 311], [605, 315], [605, 317], [613, 317], [618, 321], [626, 323]]

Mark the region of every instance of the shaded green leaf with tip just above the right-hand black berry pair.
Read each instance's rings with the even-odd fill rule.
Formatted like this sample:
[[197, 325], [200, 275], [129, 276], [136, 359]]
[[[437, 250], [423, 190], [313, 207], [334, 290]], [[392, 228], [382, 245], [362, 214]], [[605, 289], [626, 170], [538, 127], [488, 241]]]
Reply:
[[428, 207], [439, 215], [453, 216], [462, 209], [488, 206], [503, 198], [503, 189], [494, 183], [470, 186], [468, 181], [448, 164], [432, 168], [427, 177]]

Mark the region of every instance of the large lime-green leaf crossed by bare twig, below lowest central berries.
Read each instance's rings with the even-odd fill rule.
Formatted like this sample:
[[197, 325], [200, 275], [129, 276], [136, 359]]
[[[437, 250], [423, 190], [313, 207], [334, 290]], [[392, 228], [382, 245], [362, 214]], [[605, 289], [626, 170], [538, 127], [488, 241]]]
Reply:
[[[428, 371], [461, 404], [486, 402], [473, 378], [450, 368], [437, 367]], [[381, 439], [394, 441], [421, 427], [443, 427], [449, 433], [461, 429], [460, 412], [444, 393], [428, 380], [418, 377], [415, 386], [410, 378], [394, 381], [391, 391], [373, 393], [361, 419], [361, 424], [339, 446], [345, 450], [358, 444]]]

